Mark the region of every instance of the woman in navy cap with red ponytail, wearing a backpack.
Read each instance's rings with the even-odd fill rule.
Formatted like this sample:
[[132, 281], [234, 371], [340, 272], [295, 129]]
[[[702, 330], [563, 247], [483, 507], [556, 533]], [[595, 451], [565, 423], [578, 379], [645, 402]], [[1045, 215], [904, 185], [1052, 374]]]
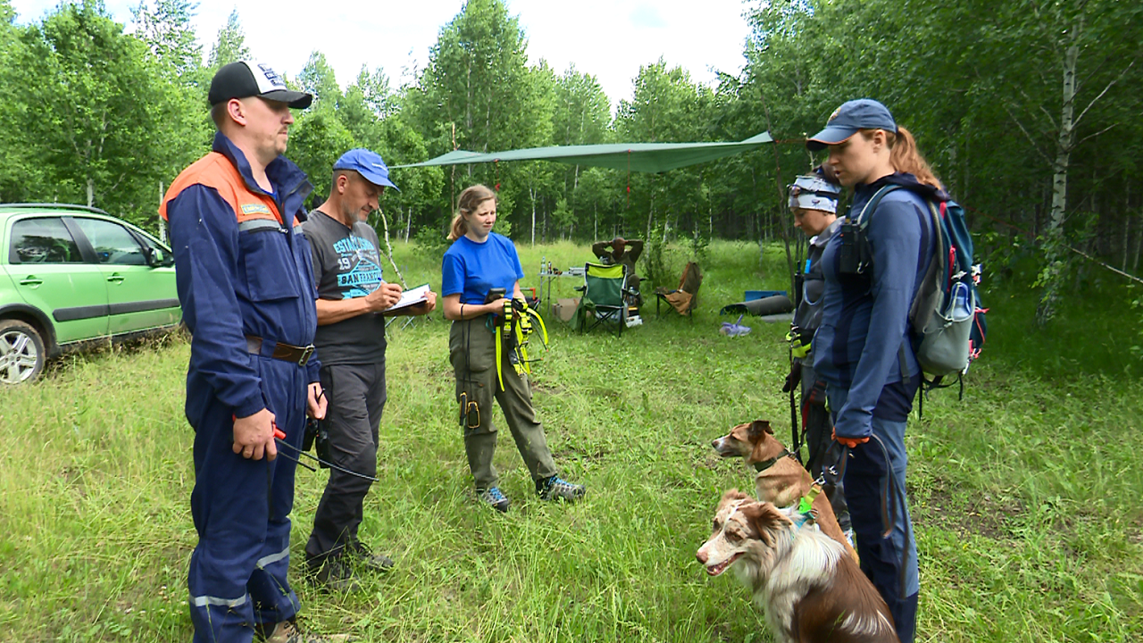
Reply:
[[839, 468], [862, 569], [888, 603], [901, 642], [912, 643], [919, 582], [905, 422], [921, 373], [909, 309], [934, 253], [928, 203], [949, 196], [912, 135], [877, 101], [842, 104], [806, 146], [829, 150], [838, 182], [854, 190], [849, 213], [873, 205], [862, 216], [868, 227], [844, 222], [823, 248], [814, 371], [826, 384], [834, 453], [848, 450]]

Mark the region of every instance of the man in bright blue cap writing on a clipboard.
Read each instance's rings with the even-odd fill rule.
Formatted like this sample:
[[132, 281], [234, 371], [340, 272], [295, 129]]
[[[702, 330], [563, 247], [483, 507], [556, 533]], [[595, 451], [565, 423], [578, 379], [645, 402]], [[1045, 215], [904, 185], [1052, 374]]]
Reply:
[[[333, 465], [305, 546], [317, 580], [330, 589], [358, 589], [357, 570], [384, 571], [393, 562], [358, 539], [363, 503], [377, 473], [377, 427], [385, 406], [385, 316], [401, 286], [383, 278], [377, 232], [366, 223], [385, 188], [389, 168], [369, 150], [345, 152], [334, 164], [329, 198], [302, 230], [313, 252], [318, 288], [320, 378], [328, 396], [322, 429]], [[387, 315], [425, 315], [437, 295]]]

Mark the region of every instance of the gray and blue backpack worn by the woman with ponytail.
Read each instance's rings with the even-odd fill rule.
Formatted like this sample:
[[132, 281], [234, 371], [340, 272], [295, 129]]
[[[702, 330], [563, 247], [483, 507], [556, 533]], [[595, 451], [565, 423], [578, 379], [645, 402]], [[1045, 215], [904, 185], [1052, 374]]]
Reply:
[[[852, 224], [858, 237], [864, 238], [869, 225], [866, 213], [877, 208], [881, 197], [901, 188], [886, 185], [865, 204]], [[981, 305], [976, 288], [981, 265], [973, 264], [973, 238], [965, 221], [965, 209], [952, 200], [936, 204], [926, 199], [926, 204], [936, 235], [936, 249], [909, 309], [909, 324], [922, 383], [926, 388], [936, 388], [943, 378], [958, 375], [959, 379], [980, 357], [988, 334], [984, 320], [988, 309]], [[870, 256], [866, 252], [861, 254]], [[901, 350], [904, 365], [903, 346]]]

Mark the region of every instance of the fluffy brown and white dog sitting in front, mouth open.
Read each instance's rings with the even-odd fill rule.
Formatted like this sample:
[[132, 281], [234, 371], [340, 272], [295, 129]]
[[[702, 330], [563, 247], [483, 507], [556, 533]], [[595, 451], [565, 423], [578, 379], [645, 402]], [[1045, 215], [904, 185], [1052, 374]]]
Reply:
[[833, 539], [738, 490], [722, 495], [695, 556], [706, 573], [734, 569], [780, 643], [900, 643], [877, 588]]

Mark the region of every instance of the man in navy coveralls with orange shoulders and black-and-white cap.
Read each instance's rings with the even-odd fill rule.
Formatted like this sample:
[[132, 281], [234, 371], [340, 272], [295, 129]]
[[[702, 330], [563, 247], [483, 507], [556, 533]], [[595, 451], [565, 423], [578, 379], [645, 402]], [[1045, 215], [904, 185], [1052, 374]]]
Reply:
[[[294, 117], [313, 97], [241, 61], [210, 81], [214, 149], [171, 184], [183, 320], [191, 331], [186, 419], [194, 428], [191, 514], [199, 543], [187, 585], [194, 641], [303, 637], [286, 580], [294, 470], [305, 414], [321, 418], [310, 245], [295, 231], [312, 190], [286, 160]], [[275, 434], [286, 445], [277, 458]], [[344, 640], [344, 637], [336, 637]]]

